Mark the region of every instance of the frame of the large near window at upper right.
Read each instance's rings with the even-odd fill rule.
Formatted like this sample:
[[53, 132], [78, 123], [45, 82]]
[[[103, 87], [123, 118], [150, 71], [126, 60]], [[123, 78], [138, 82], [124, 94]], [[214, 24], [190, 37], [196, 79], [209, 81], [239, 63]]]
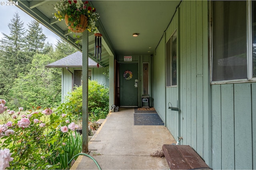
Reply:
[[[253, 73], [253, 60], [252, 60], [252, 1], [246, 1], [246, 52], [247, 52], [247, 78], [246, 79], [232, 79], [232, 80], [212, 80], [212, 67], [213, 67], [213, 29], [212, 24], [213, 18], [213, 2], [210, 3], [210, 84], [224, 84], [224, 83], [245, 83], [245, 82], [256, 82], [256, 77], [252, 77]], [[256, 12], [256, 11], [255, 11]], [[214, 18], [213, 18], [214, 19]]]

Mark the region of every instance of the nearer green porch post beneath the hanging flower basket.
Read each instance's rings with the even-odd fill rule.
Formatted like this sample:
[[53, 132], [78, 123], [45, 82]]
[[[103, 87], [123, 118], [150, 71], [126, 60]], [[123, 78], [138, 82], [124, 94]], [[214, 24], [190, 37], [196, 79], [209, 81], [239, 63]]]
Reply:
[[88, 31], [82, 36], [82, 152], [88, 152]]

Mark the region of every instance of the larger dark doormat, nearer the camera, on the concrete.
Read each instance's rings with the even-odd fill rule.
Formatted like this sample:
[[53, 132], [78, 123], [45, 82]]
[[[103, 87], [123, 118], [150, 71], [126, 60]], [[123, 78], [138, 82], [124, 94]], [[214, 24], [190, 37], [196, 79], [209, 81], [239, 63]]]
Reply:
[[134, 114], [134, 125], [164, 125], [157, 113]]

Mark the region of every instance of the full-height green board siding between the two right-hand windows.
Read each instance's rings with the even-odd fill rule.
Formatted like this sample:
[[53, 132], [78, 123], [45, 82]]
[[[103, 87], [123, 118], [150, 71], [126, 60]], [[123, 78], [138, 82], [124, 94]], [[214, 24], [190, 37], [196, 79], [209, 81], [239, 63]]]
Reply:
[[208, 2], [182, 1], [179, 9], [181, 144], [211, 165]]

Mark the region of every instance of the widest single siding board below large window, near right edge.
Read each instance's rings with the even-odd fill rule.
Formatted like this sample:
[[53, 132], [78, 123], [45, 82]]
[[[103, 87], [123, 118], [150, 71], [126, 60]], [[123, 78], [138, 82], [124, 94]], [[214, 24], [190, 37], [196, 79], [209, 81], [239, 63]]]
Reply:
[[234, 84], [235, 169], [252, 169], [251, 94], [250, 83]]

